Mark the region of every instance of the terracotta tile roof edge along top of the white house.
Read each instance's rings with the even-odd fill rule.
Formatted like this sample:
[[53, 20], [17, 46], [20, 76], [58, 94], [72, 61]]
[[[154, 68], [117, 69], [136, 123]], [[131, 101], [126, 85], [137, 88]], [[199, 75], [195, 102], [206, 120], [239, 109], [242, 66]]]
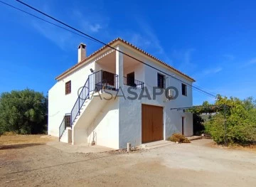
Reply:
[[73, 65], [71, 68], [69, 68], [68, 70], [66, 70], [65, 72], [63, 72], [62, 74], [58, 75], [58, 77], [56, 77], [55, 79], [58, 80], [61, 77], [63, 77], [63, 75], [68, 75], [68, 73], [70, 73], [71, 70], [80, 67], [82, 65], [85, 65], [85, 62], [87, 60], [89, 60], [90, 58], [95, 57], [95, 55], [97, 55], [97, 53], [100, 53], [102, 50], [104, 50], [105, 48], [107, 48], [108, 46], [111, 46], [112, 44], [116, 43], [117, 41], [120, 41], [122, 43], [127, 44], [128, 46], [131, 46], [132, 48], [139, 50], [141, 53], [144, 53], [144, 55], [149, 56], [150, 58], [153, 58], [154, 60], [158, 61], [159, 63], [162, 63], [163, 65], [165, 65], [168, 68], [171, 68], [172, 70], [176, 71], [177, 73], [185, 76], [186, 78], [190, 79], [191, 81], [195, 82], [196, 80], [194, 80], [193, 78], [189, 77], [188, 75], [186, 75], [185, 73], [182, 73], [180, 70], [177, 70], [176, 68], [172, 67], [171, 65], [164, 63], [164, 61], [159, 60], [158, 58], [154, 57], [153, 55], [146, 53], [144, 50], [138, 48], [137, 46], [134, 46], [132, 43], [129, 43], [128, 41], [124, 41], [122, 38], [116, 38], [113, 41], [110, 41], [110, 43], [107, 43], [106, 46], [103, 46], [102, 48], [100, 48], [99, 50], [96, 50], [94, 53], [92, 53], [91, 55], [87, 56], [87, 58], [85, 58], [84, 60], [82, 60], [80, 63], [77, 63], [75, 65]]

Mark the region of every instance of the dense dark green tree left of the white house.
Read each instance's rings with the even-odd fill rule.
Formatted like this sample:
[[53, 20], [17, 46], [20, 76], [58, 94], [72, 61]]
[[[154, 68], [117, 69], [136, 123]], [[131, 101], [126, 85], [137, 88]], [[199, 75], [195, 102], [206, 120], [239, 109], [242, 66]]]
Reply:
[[47, 97], [34, 90], [1, 93], [0, 133], [38, 134], [45, 132], [47, 106]]

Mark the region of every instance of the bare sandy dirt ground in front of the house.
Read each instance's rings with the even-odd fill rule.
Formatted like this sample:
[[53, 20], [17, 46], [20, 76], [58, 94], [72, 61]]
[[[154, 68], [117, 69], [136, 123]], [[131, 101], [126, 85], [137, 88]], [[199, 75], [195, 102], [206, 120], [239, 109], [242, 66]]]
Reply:
[[48, 136], [2, 136], [0, 186], [255, 186], [256, 183], [255, 151], [213, 146], [210, 139], [129, 154], [74, 150], [78, 149]]

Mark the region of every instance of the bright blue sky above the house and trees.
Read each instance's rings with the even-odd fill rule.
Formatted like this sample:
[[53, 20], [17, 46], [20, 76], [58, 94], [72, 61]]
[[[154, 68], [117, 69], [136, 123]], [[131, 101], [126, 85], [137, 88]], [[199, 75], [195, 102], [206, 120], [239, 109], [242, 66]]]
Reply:
[[[106, 43], [124, 38], [204, 90], [241, 99], [256, 95], [255, 1], [24, 2]], [[102, 47], [3, 4], [0, 23], [0, 92], [28, 87], [46, 94], [55, 77], [77, 63], [80, 42], [87, 54]], [[193, 91], [195, 105], [204, 100], [214, 98]]]

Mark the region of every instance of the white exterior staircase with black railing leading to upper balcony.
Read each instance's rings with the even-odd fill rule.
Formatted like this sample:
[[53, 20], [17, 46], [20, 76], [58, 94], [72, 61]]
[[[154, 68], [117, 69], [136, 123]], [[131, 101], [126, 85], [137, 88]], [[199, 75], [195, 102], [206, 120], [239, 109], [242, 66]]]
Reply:
[[[59, 140], [66, 143], [86, 142], [86, 127], [90, 125], [97, 113], [104, 107], [107, 100], [102, 98], [118, 89], [118, 75], [104, 70], [97, 71], [88, 76], [82, 87], [78, 99], [71, 109], [65, 114], [59, 127]], [[105, 92], [107, 89], [108, 93]], [[107, 97], [107, 96], [106, 96]]]

